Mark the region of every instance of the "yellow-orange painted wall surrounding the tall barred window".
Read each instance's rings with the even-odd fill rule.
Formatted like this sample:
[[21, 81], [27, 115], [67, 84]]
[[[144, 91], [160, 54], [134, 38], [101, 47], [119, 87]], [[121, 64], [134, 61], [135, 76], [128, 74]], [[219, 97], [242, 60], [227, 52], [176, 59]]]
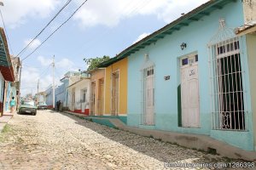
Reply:
[[119, 116], [127, 112], [127, 63], [128, 59], [122, 59], [106, 68], [106, 92], [105, 92], [105, 114], [111, 115], [112, 108], [112, 73], [119, 71]]

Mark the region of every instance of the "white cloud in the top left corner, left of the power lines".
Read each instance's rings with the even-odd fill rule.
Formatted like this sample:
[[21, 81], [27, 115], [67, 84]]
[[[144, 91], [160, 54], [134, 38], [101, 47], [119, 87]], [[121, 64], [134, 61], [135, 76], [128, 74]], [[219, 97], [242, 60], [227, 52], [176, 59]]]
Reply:
[[60, 0], [8, 0], [0, 7], [6, 25], [15, 28], [26, 23], [27, 18], [45, 18], [55, 10]]

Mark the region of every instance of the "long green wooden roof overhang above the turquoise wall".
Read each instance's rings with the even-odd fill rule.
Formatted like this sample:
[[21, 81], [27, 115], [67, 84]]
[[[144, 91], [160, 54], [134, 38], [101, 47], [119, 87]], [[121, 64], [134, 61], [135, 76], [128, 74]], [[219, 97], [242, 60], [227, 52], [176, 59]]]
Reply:
[[140, 49], [157, 42], [167, 35], [171, 35], [175, 31], [179, 31], [184, 26], [189, 26], [190, 23], [201, 20], [202, 17], [211, 14], [212, 11], [221, 9], [224, 7], [224, 5], [232, 2], [235, 3], [236, 1], [237, 0], [210, 0], [198, 8], [190, 11], [188, 14], [184, 14], [177, 20], [174, 20], [172, 23], [162, 27], [160, 30], [154, 31], [154, 33], [150, 34], [148, 37], [144, 37], [141, 41], [134, 43], [129, 48], [126, 48], [121, 53], [119, 53], [116, 57], [103, 62], [101, 65], [99, 65], [99, 67], [107, 67], [108, 65], [112, 65], [120, 59], [124, 59], [131, 54], [135, 54]]

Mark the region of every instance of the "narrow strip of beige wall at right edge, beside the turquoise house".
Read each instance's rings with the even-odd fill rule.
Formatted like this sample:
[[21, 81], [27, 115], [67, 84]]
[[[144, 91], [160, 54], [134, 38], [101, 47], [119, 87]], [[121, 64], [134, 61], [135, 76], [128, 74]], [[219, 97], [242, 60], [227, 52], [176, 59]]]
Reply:
[[254, 150], [256, 150], [256, 34], [247, 35], [247, 55], [253, 110]]

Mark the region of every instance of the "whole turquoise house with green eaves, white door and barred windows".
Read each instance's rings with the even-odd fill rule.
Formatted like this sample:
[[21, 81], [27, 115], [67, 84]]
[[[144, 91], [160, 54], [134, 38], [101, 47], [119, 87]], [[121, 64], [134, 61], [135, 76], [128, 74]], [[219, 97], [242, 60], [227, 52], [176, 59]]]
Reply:
[[128, 126], [255, 150], [247, 46], [256, 41], [235, 33], [256, 20], [245, 3], [209, 1], [118, 54], [128, 58]]

